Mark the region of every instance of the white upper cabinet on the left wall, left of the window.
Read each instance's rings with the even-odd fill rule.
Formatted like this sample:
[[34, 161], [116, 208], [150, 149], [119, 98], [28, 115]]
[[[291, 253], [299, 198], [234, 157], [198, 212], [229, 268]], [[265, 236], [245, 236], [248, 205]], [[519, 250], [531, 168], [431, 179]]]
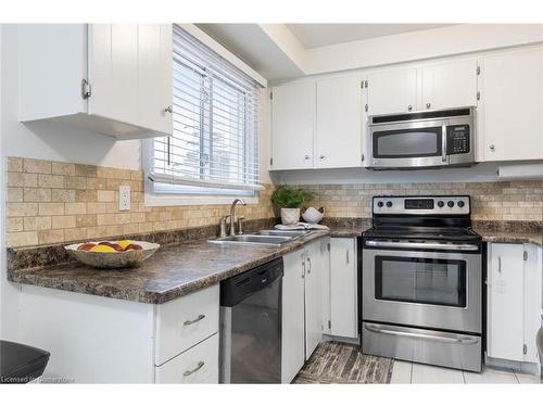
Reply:
[[119, 139], [172, 133], [172, 25], [27, 24], [18, 46], [22, 122]]

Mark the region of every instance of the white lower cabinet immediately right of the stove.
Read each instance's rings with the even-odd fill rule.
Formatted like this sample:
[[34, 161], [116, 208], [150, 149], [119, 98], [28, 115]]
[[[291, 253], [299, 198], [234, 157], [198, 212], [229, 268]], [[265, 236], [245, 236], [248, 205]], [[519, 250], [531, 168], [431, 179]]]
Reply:
[[541, 253], [534, 244], [489, 244], [487, 355], [491, 358], [539, 361]]

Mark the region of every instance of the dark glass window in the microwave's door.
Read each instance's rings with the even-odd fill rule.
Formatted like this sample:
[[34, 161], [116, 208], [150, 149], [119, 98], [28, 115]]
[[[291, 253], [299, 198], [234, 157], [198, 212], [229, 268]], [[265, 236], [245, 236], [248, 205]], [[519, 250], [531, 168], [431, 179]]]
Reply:
[[375, 131], [375, 158], [412, 158], [441, 155], [441, 127]]

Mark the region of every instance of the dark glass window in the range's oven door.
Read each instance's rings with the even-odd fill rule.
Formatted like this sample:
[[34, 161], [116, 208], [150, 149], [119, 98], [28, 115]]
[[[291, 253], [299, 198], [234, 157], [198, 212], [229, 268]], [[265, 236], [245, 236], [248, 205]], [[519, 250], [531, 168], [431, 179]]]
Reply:
[[376, 256], [376, 300], [466, 306], [466, 262]]

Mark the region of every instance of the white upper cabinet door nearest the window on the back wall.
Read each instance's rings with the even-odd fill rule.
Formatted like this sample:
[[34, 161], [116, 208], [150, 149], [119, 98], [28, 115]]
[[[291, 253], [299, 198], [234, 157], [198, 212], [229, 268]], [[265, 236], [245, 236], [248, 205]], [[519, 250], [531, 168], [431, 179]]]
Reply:
[[313, 168], [315, 82], [279, 86], [273, 97], [270, 168]]

